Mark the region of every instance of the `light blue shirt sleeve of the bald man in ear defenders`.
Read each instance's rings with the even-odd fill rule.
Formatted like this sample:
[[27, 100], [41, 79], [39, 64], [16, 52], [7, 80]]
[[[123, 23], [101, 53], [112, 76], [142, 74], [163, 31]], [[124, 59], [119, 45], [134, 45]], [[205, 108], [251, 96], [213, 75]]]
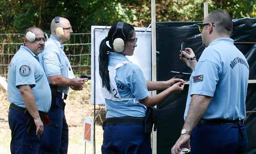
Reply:
[[46, 77], [52, 77], [61, 74], [61, 63], [56, 51], [47, 51], [42, 57]]

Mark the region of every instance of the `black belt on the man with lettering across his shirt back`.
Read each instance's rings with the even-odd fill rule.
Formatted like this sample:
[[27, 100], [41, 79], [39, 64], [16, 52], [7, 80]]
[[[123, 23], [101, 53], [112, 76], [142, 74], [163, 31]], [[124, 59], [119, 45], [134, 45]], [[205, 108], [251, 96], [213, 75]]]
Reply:
[[213, 124], [213, 125], [221, 125], [221, 124], [242, 124], [243, 120], [225, 120], [225, 119], [201, 119], [198, 124]]

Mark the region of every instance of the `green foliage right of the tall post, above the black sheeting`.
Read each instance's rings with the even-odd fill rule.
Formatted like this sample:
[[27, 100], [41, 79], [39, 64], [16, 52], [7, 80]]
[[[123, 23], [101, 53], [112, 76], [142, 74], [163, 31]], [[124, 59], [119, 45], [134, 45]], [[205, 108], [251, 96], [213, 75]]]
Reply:
[[256, 0], [158, 0], [157, 21], [201, 21], [203, 3], [208, 3], [209, 13], [216, 9], [228, 12], [233, 19], [256, 17]]

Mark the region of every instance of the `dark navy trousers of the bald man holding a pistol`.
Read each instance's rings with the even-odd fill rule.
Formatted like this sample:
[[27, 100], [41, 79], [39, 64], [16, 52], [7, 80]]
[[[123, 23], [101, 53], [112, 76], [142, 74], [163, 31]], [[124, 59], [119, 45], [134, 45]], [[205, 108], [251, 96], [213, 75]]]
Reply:
[[64, 109], [63, 99], [53, 97], [48, 112], [50, 125], [44, 126], [39, 154], [67, 154], [68, 126]]

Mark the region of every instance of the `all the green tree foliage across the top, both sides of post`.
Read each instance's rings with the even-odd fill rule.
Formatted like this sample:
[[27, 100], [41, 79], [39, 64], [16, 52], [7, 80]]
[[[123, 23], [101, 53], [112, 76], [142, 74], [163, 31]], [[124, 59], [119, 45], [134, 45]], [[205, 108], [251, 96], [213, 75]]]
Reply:
[[[156, 0], [156, 19], [201, 21], [205, 1], [209, 12], [223, 9], [233, 18], [256, 17], [256, 0]], [[151, 1], [1, 0], [0, 32], [23, 32], [30, 26], [50, 32], [54, 16], [69, 19], [74, 32], [89, 32], [91, 25], [112, 25], [118, 20], [146, 27], [151, 22]]]

